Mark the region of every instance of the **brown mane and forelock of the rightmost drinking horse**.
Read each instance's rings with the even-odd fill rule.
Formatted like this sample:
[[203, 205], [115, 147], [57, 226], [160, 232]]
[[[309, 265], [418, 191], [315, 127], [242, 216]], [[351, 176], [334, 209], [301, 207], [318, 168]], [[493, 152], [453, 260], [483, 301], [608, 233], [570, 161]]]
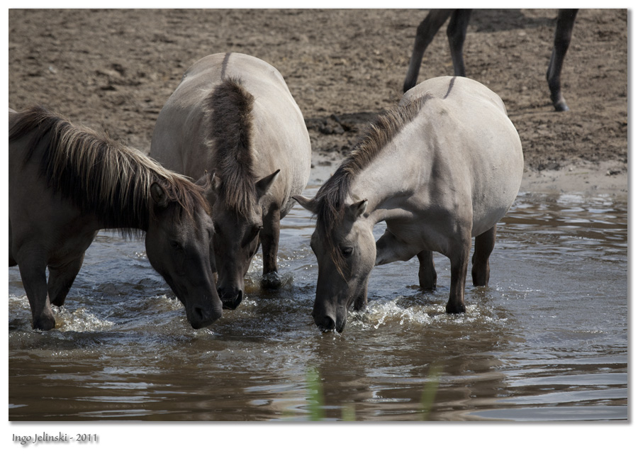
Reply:
[[317, 192], [313, 201], [316, 208], [317, 230], [323, 240], [328, 241], [330, 257], [337, 269], [342, 271], [343, 258], [338, 247], [333, 245], [332, 234], [344, 218], [344, 202], [350, 192], [350, 185], [388, 143], [399, 133], [404, 125], [413, 121], [420, 108], [432, 96], [425, 94], [420, 99], [404, 106], [396, 106], [381, 113], [362, 135], [348, 157], [337, 168], [335, 174], [326, 181]]

